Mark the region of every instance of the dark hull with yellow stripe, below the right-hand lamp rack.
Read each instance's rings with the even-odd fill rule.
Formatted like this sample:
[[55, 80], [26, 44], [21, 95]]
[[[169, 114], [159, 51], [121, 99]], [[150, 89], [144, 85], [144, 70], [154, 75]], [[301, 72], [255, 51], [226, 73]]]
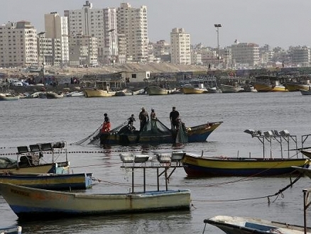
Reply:
[[268, 177], [295, 172], [292, 166], [308, 167], [306, 159], [197, 157], [186, 154], [182, 160], [189, 177]]

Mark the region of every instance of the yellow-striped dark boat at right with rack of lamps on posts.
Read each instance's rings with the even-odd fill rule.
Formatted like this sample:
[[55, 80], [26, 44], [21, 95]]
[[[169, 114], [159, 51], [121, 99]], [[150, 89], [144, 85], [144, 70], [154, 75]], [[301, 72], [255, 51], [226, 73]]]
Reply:
[[[295, 145], [295, 155], [298, 155], [297, 142], [290, 141], [295, 139], [290, 135], [288, 130], [261, 131], [261, 130], [244, 130], [244, 133], [251, 134], [252, 138], [258, 138], [263, 145], [263, 156], [261, 157], [204, 157], [201, 155], [186, 153], [183, 159], [185, 172], [189, 177], [271, 177], [286, 176], [298, 173], [292, 166], [309, 167], [310, 160], [303, 157], [290, 157], [283, 155], [283, 143], [286, 142], [287, 148]], [[283, 139], [283, 140], [282, 140]], [[272, 154], [272, 141], [278, 143], [280, 155], [275, 157]], [[270, 145], [270, 155], [265, 154], [266, 147]]]

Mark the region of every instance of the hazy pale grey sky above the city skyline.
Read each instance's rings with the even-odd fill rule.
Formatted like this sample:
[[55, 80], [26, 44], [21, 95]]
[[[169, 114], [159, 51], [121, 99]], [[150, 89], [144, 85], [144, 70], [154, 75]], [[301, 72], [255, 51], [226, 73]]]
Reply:
[[[4, 0], [1, 0], [4, 1]], [[148, 9], [151, 42], [169, 43], [172, 28], [185, 28], [191, 44], [217, 47], [240, 43], [268, 44], [288, 49], [290, 45], [311, 46], [311, 0], [89, 0], [94, 9], [118, 7], [129, 2]], [[9, 0], [1, 4], [0, 23], [31, 21], [37, 33], [44, 30], [44, 14], [82, 9], [85, 0]]]

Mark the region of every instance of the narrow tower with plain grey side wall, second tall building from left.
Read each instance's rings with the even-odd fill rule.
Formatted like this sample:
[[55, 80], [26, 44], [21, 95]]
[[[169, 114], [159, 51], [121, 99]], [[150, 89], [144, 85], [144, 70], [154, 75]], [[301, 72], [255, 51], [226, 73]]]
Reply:
[[[69, 62], [67, 17], [59, 16], [57, 12], [51, 12], [44, 15], [44, 23], [45, 38], [55, 39], [53, 41], [60, 41], [60, 50], [53, 49], [53, 52], [55, 52], [55, 57], [58, 57], [58, 53], [60, 53], [59, 64], [67, 65]], [[56, 61], [58, 61], [58, 59], [55, 59], [53, 65], [57, 65], [58, 62]]]

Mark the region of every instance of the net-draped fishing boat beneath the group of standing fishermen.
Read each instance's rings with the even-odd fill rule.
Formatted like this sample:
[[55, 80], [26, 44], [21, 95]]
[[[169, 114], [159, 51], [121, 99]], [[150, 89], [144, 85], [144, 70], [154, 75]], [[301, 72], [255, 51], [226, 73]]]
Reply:
[[185, 127], [180, 123], [180, 130], [175, 132], [158, 119], [148, 121], [142, 130], [130, 130], [127, 122], [112, 129], [109, 133], [98, 131], [90, 143], [100, 145], [133, 145], [133, 144], [163, 144], [163, 143], [192, 143], [204, 142], [222, 121], [204, 123], [199, 126]]

